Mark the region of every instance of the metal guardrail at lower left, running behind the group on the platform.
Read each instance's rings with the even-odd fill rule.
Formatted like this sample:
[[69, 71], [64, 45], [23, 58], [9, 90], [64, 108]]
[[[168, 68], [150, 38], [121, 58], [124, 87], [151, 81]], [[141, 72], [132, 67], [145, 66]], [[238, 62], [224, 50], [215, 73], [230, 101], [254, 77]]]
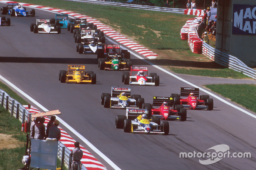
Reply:
[[[28, 110], [20, 104], [18, 101], [10, 97], [4, 90], [0, 89], [0, 107], [4, 107], [11, 113], [11, 116], [16, 117], [22, 123], [24, 123], [28, 118]], [[21, 128], [21, 127], [20, 127]], [[69, 155], [71, 151], [59, 141], [58, 144], [58, 158], [61, 159], [62, 157], [62, 147], [65, 147], [65, 154], [64, 154], [64, 165], [68, 167], [69, 165]], [[84, 165], [81, 166], [82, 170], [87, 170]]]

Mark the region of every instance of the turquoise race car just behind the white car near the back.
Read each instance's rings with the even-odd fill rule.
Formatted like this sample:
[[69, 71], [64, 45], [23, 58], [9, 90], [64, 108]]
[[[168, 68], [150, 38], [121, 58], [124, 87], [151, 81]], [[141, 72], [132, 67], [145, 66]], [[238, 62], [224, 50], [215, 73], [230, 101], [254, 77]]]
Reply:
[[55, 14], [55, 18], [50, 18], [50, 24], [56, 24], [60, 28], [68, 28], [68, 24], [74, 24], [74, 19], [68, 19], [68, 14]]

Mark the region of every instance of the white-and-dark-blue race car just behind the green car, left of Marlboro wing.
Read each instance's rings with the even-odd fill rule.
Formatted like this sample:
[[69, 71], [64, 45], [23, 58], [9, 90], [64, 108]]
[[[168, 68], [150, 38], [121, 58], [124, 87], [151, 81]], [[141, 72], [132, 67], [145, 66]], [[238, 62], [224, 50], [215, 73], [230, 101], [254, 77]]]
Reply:
[[98, 54], [105, 44], [99, 43], [98, 38], [83, 38], [83, 43], [76, 43], [76, 51], [79, 54]]

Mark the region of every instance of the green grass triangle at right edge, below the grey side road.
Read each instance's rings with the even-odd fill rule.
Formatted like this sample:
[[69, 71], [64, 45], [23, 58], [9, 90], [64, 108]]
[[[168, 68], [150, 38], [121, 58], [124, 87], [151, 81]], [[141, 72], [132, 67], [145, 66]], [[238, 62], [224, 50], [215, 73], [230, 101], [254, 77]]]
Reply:
[[231, 99], [231, 101], [256, 112], [255, 100], [256, 100], [256, 85], [205, 85], [205, 87], [211, 89], [213, 92], [217, 92], [223, 97]]

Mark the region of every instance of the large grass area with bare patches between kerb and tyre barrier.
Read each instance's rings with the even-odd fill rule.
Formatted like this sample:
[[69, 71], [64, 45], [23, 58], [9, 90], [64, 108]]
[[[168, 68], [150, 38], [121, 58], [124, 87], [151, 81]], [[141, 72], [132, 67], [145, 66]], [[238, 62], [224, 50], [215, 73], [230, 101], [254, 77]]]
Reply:
[[[202, 64], [197, 63], [202, 62], [216, 66], [208, 69], [219, 69], [220, 67], [204, 55], [192, 53], [188, 42], [180, 39], [180, 29], [189, 18], [195, 16], [62, 0], [20, 0], [20, 2], [74, 11], [95, 18], [123, 34], [126, 38], [158, 54], [156, 60], [159, 60], [157, 61], [159, 65], [165, 65], [164, 60], [179, 61], [178, 64], [174, 62], [169, 66], [184, 69], [183, 74], [191, 74], [191, 71], [186, 69], [188, 66], [192, 67], [191, 69], [201, 68]], [[52, 14], [52, 18], [54, 17], [54, 14]], [[36, 18], [40, 18], [40, 16]], [[155, 62], [155, 60], [150, 61]], [[173, 69], [172, 71], [176, 72], [178, 70]], [[212, 77], [206, 74], [208, 71], [202, 72], [205, 72], [204, 76]], [[239, 72], [234, 73], [231, 69], [227, 69], [225, 72], [228, 72], [228, 75], [234, 75], [230, 78], [243, 78], [240, 77]], [[200, 75], [197, 74], [197, 71], [194, 71], [194, 73]], [[215, 71], [214, 77], [221, 77], [221, 75], [223, 74], [218, 74], [218, 71]]]

